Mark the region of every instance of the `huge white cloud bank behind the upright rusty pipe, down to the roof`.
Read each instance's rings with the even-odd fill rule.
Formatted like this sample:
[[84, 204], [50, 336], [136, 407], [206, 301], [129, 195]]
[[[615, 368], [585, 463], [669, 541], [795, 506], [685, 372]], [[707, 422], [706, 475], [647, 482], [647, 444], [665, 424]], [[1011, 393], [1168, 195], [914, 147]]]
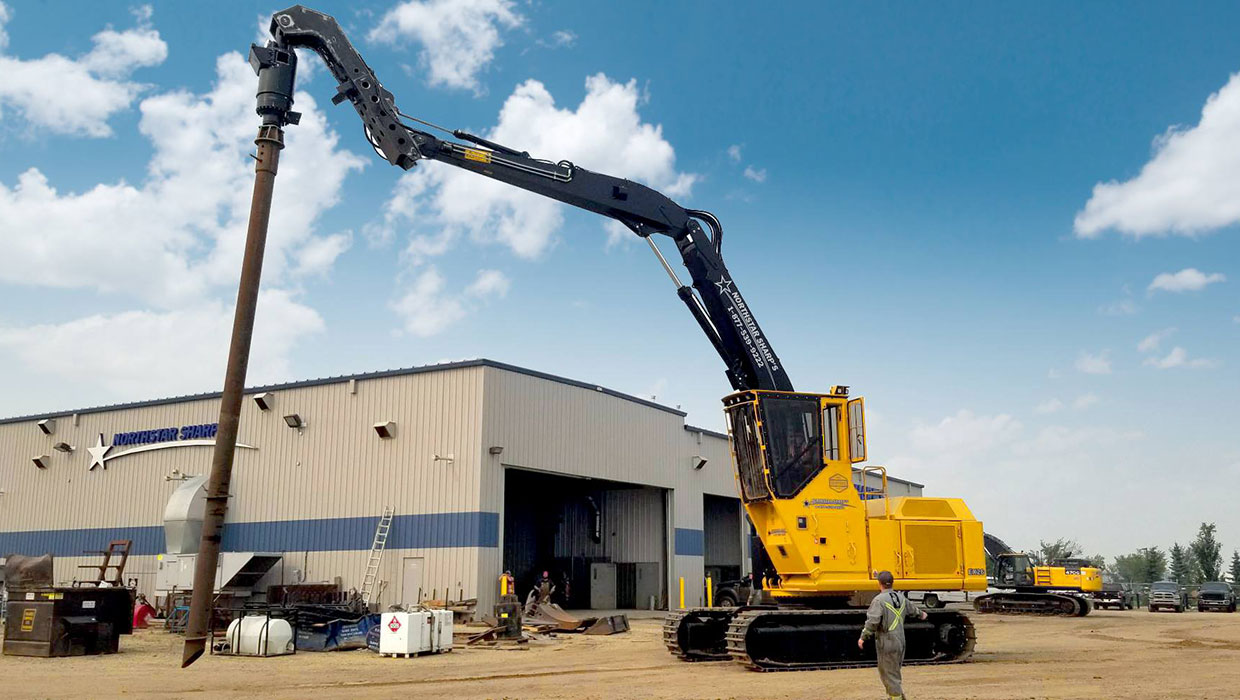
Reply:
[[[118, 51], [150, 51], [141, 40], [104, 45], [94, 58], [99, 66]], [[253, 382], [289, 378], [291, 348], [322, 330], [319, 315], [286, 285], [327, 271], [351, 244], [348, 232], [317, 235], [315, 228], [345, 177], [365, 162], [337, 147], [310, 95], [298, 93], [296, 100], [303, 119], [288, 131], [280, 164]], [[253, 72], [241, 55], [228, 53], [218, 58], [208, 93], [167, 92], [141, 102], [139, 130], [153, 155], [140, 185], [61, 192], [37, 168], [11, 188], [0, 182], [0, 282], [114, 294], [153, 307], [0, 328], [0, 351], [15, 367], [94, 387], [108, 400], [218, 388], [254, 177], [253, 108]]]

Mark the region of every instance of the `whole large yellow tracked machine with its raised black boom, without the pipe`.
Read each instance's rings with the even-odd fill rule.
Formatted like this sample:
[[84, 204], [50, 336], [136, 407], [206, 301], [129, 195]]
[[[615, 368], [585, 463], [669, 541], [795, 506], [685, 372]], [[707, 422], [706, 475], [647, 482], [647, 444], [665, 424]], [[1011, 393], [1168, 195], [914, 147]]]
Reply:
[[[727, 659], [751, 669], [817, 669], [874, 664], [856, 641], [866, 603], [889, 570], [898, 590], [983, 591], [982, 524], [955, 498], [862, 499], [853, 465], [866, 461], [863, 401], [847, 387], [797, 392], [723, 263], [723, 227], [709, 212], [684, 208], [641, 183], [543, 160], [401, 112], [336, 21], [293, 6], [277, 12], [273, 40], [250, 48], [264, 129], [295, 124], [296, 53], [315, 51], [339, 85], [367, 141], [392, 165], [419, 160], [471, 171], [615, 219], [646, 240], [697, 325], [723, 358], [735, 393], [724, 398], [737, 481], [769, 565], [759, 571], [774, 605], [677, 611], [665, 642], [682, 659]], [[414, 121], [417, 124], [410, 124]], [[453, 136], [441, 139], [430, 130]], [[682, 284], [655, 238], [670, 239], [692, 279]], [[864, 476], [866, 472], [862, 472]], [[973, 627], [957, 611], [906, 622], [909, 663], [968, 658]]]

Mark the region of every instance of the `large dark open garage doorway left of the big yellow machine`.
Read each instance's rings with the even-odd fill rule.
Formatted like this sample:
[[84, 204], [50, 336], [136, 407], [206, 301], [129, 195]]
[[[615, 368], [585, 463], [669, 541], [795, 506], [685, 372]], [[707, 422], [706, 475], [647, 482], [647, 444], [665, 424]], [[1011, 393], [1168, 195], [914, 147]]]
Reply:
[[522, 601], [546, 571], [569, 610], [665, 607], [667, 491], [505, 470], [503, 569]]

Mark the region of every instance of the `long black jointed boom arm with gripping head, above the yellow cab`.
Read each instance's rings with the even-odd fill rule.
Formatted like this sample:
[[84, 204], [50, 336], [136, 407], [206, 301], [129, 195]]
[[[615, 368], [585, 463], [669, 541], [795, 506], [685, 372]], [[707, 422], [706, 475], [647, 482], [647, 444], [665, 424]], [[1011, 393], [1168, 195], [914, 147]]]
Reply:
[[[259, 74], [260, 95], [267, 94], [264, 89], [274, 94], [267, 100], [269, 104], [285, 110], [291, 107], [293, 66], [296, 62], [291, 50], [314, 50], [339, 83], [332, 102], [340, 104], [348, 100], [353, 105], [366, 128], [367, 140], [388, 162], [409, 170], [418, 160], [436, 160], [619, 221], [645, 238], [658, 255], [663, 269], [676, 282], [677, 295], [728, 365], [733, 388], [792, 390], [775, 351], [723, 264], [723, 227], [714, 216], [686, 209], [639, 182], [591, 172], [569, 161], [538, 160], [528, 152], [460, 130], [451, 134], [465, 144], [443, 140], [409, 126], [402, 120], [405, 115], [397, 108], [392, 93], [383, 88], [329, 15], [301, 5], [281, 10], [272, 17], [272, 36], [275, 41], [267, 47], [254, 46], [250, 50], [250, 63]], [[260, 99], [260, 105], [263, 102]], [[709, 235], [703, 223], [711, 229]], [[656, 233], [676, 242], [693, 280], [692, 287], [681, 284], [658, 253], [650, 238]]]

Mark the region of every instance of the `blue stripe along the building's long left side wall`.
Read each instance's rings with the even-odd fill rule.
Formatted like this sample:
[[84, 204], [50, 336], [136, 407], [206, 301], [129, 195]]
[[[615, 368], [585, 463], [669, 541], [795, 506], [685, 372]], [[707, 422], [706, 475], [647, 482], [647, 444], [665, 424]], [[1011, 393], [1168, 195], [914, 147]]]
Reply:
[[[332, 551], [368, 550], [378, 518], [320, 518], [312, 520], [268, 520], [228, 523], [221, 548], [224, 551]], [[701, 534], [701, 533], [699, 533]], [[130, 554], [164, 551], [161, 525], [93, 528], [77, 530], [29, 530], [0, 533], [0, 556], [45, 554], [79, 556], [99, 550], [109, 540], [134, 540]], [[389, 549], [436, 549], [446, 546], [498, 546], [500, 514], [489, 512], [419, 513], [392, 518]]]

